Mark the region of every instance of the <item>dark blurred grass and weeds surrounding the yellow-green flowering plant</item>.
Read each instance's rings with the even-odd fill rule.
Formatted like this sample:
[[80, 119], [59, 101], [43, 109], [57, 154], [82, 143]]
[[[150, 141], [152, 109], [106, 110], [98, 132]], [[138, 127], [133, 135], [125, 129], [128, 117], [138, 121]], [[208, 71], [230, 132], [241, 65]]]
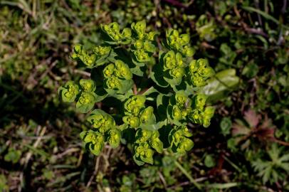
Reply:
[[[0, 191], [289, 191], [289, 5], [286, 0], [0, 0]], [[208, 58], [216, 107], [191, 127], [194, 149], [137, 166], [127, 146], [83, 149], [85, 116], [59, 102], [89, 75], [75, 43], [100, 42], [100, 23], [147, 21], [191, 34]], [[235, 75], [236, 73], [236, 75]]]

